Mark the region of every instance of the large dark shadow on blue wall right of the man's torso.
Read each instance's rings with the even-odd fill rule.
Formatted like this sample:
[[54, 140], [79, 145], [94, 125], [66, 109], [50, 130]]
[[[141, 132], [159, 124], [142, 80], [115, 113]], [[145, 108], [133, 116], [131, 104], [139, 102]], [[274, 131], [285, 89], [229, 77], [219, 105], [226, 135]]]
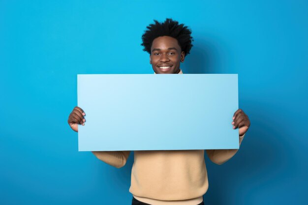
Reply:
[[260, 196], [275, 192], [273, 186], [286, 183], [290, 177], [285, 170], [292, 161], [286, 151], [291, 142], [286, 141], [287, 132], [279, 126], [277, 115], [265, 112], [269, 109], [265, 103], [246, 103], [243, 110], [251, 126], [237, 154], [220, 166], [205, 155], [209, 177], [206, 204], [256, 204]]

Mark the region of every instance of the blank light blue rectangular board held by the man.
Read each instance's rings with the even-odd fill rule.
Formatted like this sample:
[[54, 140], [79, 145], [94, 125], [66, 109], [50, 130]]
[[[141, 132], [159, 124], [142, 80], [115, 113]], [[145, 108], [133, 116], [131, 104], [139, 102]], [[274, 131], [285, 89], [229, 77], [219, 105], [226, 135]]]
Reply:
[[239, 148], [237, 74], [78, 75], [79, 151]]

